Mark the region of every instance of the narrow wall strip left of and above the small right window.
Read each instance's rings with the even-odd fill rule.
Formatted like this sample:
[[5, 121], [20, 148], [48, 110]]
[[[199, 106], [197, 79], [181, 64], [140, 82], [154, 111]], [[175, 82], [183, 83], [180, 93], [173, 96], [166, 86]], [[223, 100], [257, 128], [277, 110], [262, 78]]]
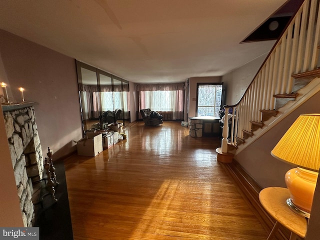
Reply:
[[190, 77], [189, 79], [189, 112], [188, 116], [196, 116], [196, 84], [221, 82], [220, 76]]

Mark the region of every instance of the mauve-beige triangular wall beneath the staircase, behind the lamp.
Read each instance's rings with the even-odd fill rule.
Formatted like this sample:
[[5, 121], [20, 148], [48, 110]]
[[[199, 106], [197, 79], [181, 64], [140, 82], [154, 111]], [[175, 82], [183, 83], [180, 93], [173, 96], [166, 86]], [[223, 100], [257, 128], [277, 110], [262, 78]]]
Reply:
[[292, 165], [275, 159], [270, 155], [270, 151], [301, 113], [319, 113], [319, 102], [320, 92], [234, 157], [261, 187], [285, 187], [284, 174]]

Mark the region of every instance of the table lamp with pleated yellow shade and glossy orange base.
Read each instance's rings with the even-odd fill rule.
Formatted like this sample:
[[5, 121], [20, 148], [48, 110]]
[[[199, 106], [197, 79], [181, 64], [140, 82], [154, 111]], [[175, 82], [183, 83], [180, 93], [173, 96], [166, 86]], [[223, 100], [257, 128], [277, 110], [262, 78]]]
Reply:
[[320, 113], [301, 114], [271, 150], [271, 155], [296, 165], [285, 174], [287, 205], [309, 218], [320, 167]]

